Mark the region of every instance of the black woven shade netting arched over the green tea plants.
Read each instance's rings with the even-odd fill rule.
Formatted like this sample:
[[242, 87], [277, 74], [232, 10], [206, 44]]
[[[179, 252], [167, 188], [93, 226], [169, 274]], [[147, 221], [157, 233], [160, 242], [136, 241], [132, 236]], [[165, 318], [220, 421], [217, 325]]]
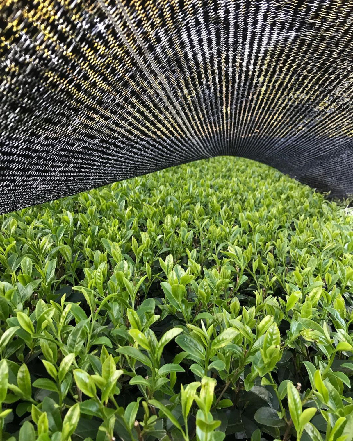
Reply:
[[352, 194], [352, 29], [353, 1], [0, 0], [0, 213], [217, 155]]

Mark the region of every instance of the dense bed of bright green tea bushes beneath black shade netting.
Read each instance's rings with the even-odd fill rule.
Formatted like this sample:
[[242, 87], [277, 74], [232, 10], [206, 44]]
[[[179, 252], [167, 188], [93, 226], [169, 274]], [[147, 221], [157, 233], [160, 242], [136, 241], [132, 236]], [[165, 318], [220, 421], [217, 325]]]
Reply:
[[353, 440], [353, 218], [218, 157], [0, 217], [0, 437]]

